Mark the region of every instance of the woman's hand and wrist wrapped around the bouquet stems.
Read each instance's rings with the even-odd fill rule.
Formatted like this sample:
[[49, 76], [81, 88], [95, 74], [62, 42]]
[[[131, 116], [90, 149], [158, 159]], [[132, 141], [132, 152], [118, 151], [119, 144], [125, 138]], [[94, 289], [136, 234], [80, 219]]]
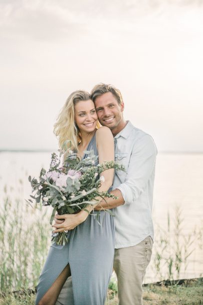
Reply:
[[64, 214], [55, 216], [55, 224], [52, 227], [56, 229], [53, 233], [73, 230], [79, 224], [84, 222], [88, 216], [85, 211], [80, 211], [78, 214]]

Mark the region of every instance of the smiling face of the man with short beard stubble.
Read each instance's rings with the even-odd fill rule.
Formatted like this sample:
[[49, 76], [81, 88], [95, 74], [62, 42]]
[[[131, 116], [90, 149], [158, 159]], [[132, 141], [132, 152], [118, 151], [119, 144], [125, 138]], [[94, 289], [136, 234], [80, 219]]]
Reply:
[[94, 103], [100, 124], [109, 127], [113, 134], [124, 128], [125, 121], [122, 115], [124, 104], [119, 105], [111, 92], [98, 96]]

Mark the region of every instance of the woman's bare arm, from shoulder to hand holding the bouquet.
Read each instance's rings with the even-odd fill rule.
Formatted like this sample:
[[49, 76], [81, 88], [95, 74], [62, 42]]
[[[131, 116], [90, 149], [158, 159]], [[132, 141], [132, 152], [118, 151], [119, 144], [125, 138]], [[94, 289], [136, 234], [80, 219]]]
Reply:
[[[105, 161], [114, 161], [114, 139], [111, 130], [108, 127], [102, 126], [96, 131], [96, 142], [99, 164], [102, 164]], [[101, 176], [104, 177], [104, 181], [101, 181], [99, 191], [108, 191], [113, 183], [114, 169], [104, 171], [100, 174], [100, 177]], [[90, 213], [101, 200], [102, 198], [100, 197], [96, 198], [95, 205], [88, 205], [85, 209]], [[53, 227], [56, 228], [54, 232], [57, 233], [74, 229], [77, 225], [86, 220], [88, 217], [87, 211], [82, 210], [78, 214], [56, 215], [56, 223], [53, 225]], [[65, 220], [61, 221], [60, 219]]]

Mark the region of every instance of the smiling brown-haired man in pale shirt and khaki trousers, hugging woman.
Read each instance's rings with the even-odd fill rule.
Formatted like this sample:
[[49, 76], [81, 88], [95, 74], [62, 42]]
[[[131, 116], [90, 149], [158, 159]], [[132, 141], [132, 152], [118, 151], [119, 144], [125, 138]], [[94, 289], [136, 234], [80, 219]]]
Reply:
[[[157, 150], [150, 135], [124, 119], [124, 103], [117, 88], [101, 83], [92, 89], [91, 96], [99, 122], [109, 127], [114, 136], [115, 160], [126, 169], [126, 173], [115, 173], [111, 193], [117, 199], [107, 198], [95, 209], [114, 208], [113, 267], [118, 279], [119, 305], [140, 305], [153, 244], [151, 213]], [[65, 287], [68, 285], [70, 278]], [[66, 289], [66, 295], [71, 293], [71, 289]], [[60, 296], [56, 304], [61, 304]]]

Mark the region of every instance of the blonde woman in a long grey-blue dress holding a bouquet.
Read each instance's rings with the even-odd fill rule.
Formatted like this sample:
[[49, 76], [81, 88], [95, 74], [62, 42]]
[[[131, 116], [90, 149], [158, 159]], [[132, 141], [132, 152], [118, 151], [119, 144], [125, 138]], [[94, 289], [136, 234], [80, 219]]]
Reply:
[[[67, 139], [72, 150], [86, 158], [84, 150], [94, 150], [99, 163], [114, 160], [114, 141], [109, 128], [97, 128], [97, 113], [90, 94], [75, 91], [62, 108], [54, 132], [59, 145]], [[107, 191], [113, 182], [113, 169], [103, 172], [105, 181], [100, 191]], [[92, 205], [88, 210], [93, 209]], [[54, 305], [66, 281], [72, 275], [75, 305], [103, 305], [112, 273], [114, 257], [114, 225], [112, 216], [100, 213], [99, 225], [86, 211], [57, 215], [54, 232], [68, 230], [68, 244], [54, 243], [45, 262], [37, 289], [37, 305]], [[105, 213], [105, 217], [104, 217]], [[65, 219], [60, 221], [60, 219]]]

